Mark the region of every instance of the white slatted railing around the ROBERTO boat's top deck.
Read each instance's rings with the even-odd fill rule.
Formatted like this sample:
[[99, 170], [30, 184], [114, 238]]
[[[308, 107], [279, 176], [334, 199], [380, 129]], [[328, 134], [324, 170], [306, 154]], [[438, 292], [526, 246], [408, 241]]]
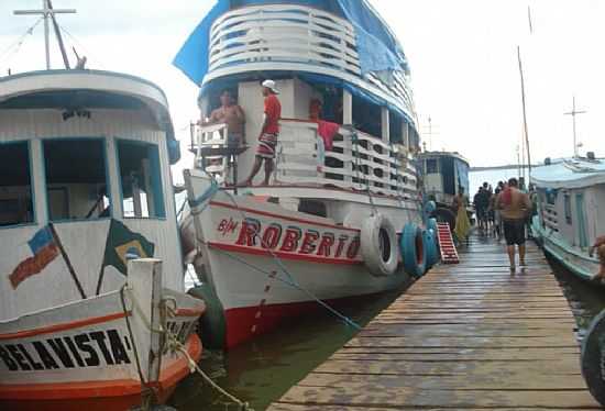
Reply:
[[248, 69], [326, 74], [362, 81], [370, 91], [414, 111], [407, 75], [395, 71], [389, 81], [375, 74], [362, 76], [353, 25], [322, 10], [298, 4], [231, 10], [212, 23], [208, 58], [210, 78]]

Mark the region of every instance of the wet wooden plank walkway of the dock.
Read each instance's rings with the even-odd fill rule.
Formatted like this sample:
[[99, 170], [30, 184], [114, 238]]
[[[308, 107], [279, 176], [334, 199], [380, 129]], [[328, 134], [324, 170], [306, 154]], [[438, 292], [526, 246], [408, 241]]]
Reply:
[[575, 321], [542, 253], [510, 275], [503, 245], [474, 236], [271, 411], [601, 410], [580, 370]]

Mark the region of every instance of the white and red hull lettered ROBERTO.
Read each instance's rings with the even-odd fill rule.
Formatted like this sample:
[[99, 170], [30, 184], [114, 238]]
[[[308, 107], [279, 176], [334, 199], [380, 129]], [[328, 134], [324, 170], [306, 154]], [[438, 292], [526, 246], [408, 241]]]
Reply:
[[[204, 192], [195, 185], [194, 179], [188, 188], [194, 198]], [[399, 230], [411, 215], [396, 207], [380, 212], [391, 213]], [[182, 230], [189, 238], [198, 233], [204, 263], [198, 273], [222, 306], [227, 348], [317, 309], [318, 300], [372, 296], [410, 278], [400, 264], [391, 275], [369, 271], [360, 252], [361, 231], [355, 226], [361, 226], [371, 208], [366, 214], [353, 208], [349, 213], [356, 215], [359, 224], [334, 224], [251, 196], [224, 192], [191, 210]]]

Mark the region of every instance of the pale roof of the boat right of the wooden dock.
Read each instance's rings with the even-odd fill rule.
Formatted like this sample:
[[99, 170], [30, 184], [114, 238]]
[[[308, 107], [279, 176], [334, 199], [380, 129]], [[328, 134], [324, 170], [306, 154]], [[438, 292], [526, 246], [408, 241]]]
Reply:
[[605, 184], [605, 159], [568, 158], [532, 170], [538, 187], [564, 189]]

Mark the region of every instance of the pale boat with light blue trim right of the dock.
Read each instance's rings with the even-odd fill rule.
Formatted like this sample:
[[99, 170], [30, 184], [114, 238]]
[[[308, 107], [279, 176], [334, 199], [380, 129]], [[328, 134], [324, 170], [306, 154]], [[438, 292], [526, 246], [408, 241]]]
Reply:
[[605, 233], [605, 160], [591, 153], [535, 168], [531, 181], [538, 192], [538, 215], [532, 231], [544, 249], [585, 280], [600, 268], [588, 255]]

